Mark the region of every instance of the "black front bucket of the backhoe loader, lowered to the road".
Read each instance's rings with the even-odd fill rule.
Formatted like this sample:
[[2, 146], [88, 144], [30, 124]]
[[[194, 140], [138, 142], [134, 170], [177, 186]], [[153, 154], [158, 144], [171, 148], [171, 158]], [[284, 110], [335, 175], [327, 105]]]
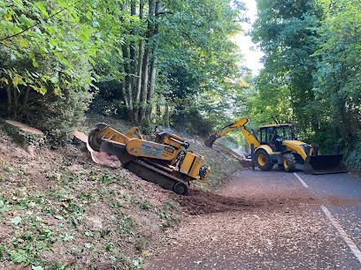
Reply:
[[304, 161], [303, 172], [308, 175], [348, 172], [342, 156], [343, 154], [308, 155]]

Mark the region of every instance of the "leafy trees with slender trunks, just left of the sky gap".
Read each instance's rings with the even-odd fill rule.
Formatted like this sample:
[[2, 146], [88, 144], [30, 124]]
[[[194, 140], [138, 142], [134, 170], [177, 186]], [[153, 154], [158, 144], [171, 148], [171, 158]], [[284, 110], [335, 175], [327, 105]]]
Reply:
[[[181, 101], [195, 101], [204, 93], [212, 95], [215, 102], [227, 104], [227, 92], [237, 88], [234, 81], [240, 77], [237, 62], [241, 55], [230, 37], [242, 30], [239, 21], [243, 20], [243, 4], [236, 1], [231, 4], [226, 0], [163, 1], [162, 13], [147, 18], [144, 12], [147, 4], [142, 14], [129, 16], [132, 2], [111, 6], [112, 12], [108, 10], [109, 4], [100, 3], [103, 2], [95, 3], [99, 12], [107, 11], [102, 16], [94, 11], [93, 16], [100, 24], [101, 33], [109, 31], [122, 37], [122, 42], [111, 48], [111, 53], [99, 54], [96, 59], [96, 72], [101, 79], [99, 99], [109, 105], [108, 112], [131, 118], [146, 103], [155, 108], [151, 94], [146, 101], [140, 101], [134, 90], [134, 79], [139, 76], [136, 67], [142, 64], [135, 59], [145, 56], [147, 49], [151, 50], [150, 62], [157, 58], [155, 91], [159, 99], [167, 101], [166, 106], [179, 110]], [[149, 35], [150, 28], [154, 31]], [[146, 42], [145, 46], [142, 41]], [[129, 85], [131, 87], [127, 88]], [[106, 98], [108, 101], [105, 102]], [[204, 101], [200, 103], [204, 104]], [[99, 109], [98, 106], [95, 108]], [[124, 109], [128, 109], [127, 114]], [[199, 109], [204, 113], [213, 110], [211, 106]]]

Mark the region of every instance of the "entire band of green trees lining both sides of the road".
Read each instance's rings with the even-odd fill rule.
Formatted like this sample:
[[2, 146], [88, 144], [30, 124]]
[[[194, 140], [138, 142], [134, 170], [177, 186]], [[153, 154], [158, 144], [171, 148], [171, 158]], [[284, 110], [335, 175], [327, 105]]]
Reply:
[[89, 104], [202, 134], [249, 116], [352, 149], [361, 136], [360, 11], [357, 0], [257, 0], [251, 36], [265, 56], [252, 78], [232, 41], [247, 20], [239, 1], [3, 0], [2, 116], [56, 137]]

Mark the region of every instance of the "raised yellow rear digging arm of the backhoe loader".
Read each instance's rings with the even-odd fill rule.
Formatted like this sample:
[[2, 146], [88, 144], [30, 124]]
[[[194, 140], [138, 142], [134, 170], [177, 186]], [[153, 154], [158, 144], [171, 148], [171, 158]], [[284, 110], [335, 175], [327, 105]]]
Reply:
[[209, 139], [206, 139], [204, 141], [204, 145], [211, 148], [211, 146], [213, 146], [213, 143], [216, 141], [216, 139], [219, 139], [219, 138], [225, 136], [230, 131], [234, 131], [236, 129], [241, 129], [241, 131], [244, 135], [244, 138], [247, 140], [247, 143], [249, 146], [251, 144], [253, 144], [255, 147], [260, 146], [256, 134], [254, 134], [254, 132], [253, 132], [253, 134], [251, 134], [250, 131], [247, 131], [247, 129], [245, 128], [244, 125], [247, 124], [248, 122], [249, 122], [249, 119], [247, 117], [243, 117], [242, 119], [236, 120], [231, 124], [227, 124], [226, 126], [221, 128], [221, 131], [216, 131], [216, 133], [211, 135], [211, 137]]

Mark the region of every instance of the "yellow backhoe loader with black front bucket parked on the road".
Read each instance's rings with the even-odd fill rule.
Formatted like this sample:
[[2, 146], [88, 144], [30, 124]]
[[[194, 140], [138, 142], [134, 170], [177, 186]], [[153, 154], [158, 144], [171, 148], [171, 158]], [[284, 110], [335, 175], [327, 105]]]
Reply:
[[294, 171], [296, 163], [303, 164], [303, 172], [306, 174], [328, 174], [347, 172], [342, 161], [339, 147], [335, 147], [335, 154], [320, 154], [316, 144], [308, 145], [295, 138], [292, 124], [268, 124], [259, 127], [260, 138], [257, 138], [254, 130], [248, 131], [245, 124], [249, 123], [247, 117], [234, 121], [216, 131], [204, 145], [211, 147], [214, 141], [223, 137], [230, 131], [241, 129], [249, 146], [255, 147], [255, 161], [259, 169], [273, 169], [278, 164], [285, 171]]

